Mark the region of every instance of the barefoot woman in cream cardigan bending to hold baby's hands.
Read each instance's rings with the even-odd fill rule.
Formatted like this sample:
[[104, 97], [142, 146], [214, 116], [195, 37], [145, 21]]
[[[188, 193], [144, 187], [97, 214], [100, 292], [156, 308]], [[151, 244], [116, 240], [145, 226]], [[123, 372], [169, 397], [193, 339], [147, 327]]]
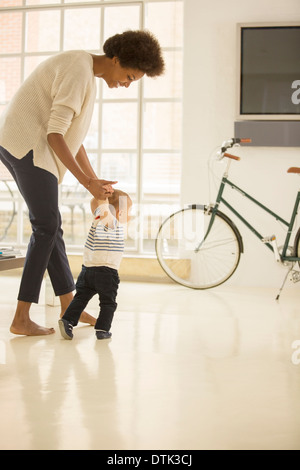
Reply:
[[[116, 181], [98, 179], [82, 142], [96, 96], [95, 77], [109, 88], [128, 88], [145, 74], [164, 70], [161, 49], [147, 31], [126, 31], [109, 38], [103, 55], [68, 51], [50, 57], [25, 80], [0, 119], [0, 159], [14, 177], [28, 206], [32, 235], [28, 244], [17, 308], [10, 331], [48, 335], [30, 319], [45, 270], [60, 297], [61, 316], [75, 289], [61, 229], [58, 184], [69, 170], [96, 199], [113, 192]], [[95, 324], [83, 312], [80, 318]]]

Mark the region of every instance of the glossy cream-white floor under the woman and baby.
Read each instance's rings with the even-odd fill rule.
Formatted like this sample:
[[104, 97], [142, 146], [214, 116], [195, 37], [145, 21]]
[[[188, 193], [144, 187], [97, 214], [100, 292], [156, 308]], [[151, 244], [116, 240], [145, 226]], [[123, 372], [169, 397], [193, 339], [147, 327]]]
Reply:
[[[278, 303], [123, 282], [112, 339], [66, 341], [9, 333], [19, 280], [0, 282], [1, 449], [300, 449], [298, 289]], [[32, 309], [47, 326], [58, 313]]]

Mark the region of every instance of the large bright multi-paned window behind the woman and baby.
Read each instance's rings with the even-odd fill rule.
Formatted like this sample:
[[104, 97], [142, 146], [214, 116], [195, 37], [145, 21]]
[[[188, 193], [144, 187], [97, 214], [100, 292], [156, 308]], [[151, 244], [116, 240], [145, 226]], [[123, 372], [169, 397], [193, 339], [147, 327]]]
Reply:
[[[84, 145], [99, 177], [118, 180], [117, 187], [133, 199], [126, 252], [151, 256], [159, 223], [179, 205], [182, 0], [0, 0], [0, 113], [45, 58], [71, 49], [101, 54], [108, 37], [141, 28], [158, 38], [166, 73], [128, 89], [111, 90], [98, 80]], [[26, 246], [27, 208], [2, 167], [0, 184], [0, 239]], [[89, 196], [67, 172], [60, 203], [69, 252], [82, 251], [91, 220]]]

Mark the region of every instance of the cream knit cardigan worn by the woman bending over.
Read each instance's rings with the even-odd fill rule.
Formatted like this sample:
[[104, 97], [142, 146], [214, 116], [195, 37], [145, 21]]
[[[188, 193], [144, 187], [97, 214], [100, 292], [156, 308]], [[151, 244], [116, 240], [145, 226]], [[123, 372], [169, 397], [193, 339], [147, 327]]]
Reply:
[[61, 183], [66, 167], [47, 135], [62, 134], [75, 157], [88, 132], [95, 98], [91, 54], [67, 51], [52, 56], [24, 81], [0, 116], [0, 145], [19, 159], [33, 150], [34, 165]]

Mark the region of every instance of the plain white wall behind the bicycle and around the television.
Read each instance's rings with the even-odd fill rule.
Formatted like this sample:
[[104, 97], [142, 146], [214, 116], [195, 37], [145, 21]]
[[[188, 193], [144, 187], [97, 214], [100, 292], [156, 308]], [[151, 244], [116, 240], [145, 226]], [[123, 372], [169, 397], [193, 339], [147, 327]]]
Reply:
[[[236, 24], [299, 21], [300, 0], [185, 0], [184, 14], [182, 203], [207, 203], [215, 196], [211, 191], [209, 197], [208, 157], [234, 133]], [[232, 164], [231, 179], [288, 219], [300, 179], [287, 174], [287, 169], [300, 166], [300, 149], [243, 147], [238, 153], [241, 161]], [[214, 165], [217, 174], [222, 169], [224, 165]], [[285, 231], [280, 224], [259, 209], [253, 210], [237, 193], [233, 197], [258, 228], [263, 226], [262, 235], [276, 233], [282, 243]], [[279, 288], [286, 271], [275, 264], [272, 253], [248, 229], [240, 222], [237, 225], [245, 253], [229, 282]], [[299, 284], [287, 283], [291, 286], [300, 289]]]

